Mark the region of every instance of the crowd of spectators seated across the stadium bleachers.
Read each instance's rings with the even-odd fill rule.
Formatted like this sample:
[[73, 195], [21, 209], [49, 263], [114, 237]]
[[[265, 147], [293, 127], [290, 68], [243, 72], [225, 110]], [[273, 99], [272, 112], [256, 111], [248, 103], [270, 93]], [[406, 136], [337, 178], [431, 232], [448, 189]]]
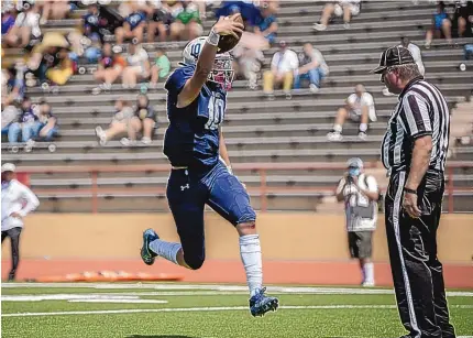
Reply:
[[[164, 81], [172, 72], [166, 45], [161, 45], [151, 53], [145, 50], [144, 43], [168, 42], [173, 46], [176, 41], [188, 41], [201, 35], [202, 23], [209, 10], [215, 10], [217, 18], [241, 13], [246, 30], [232, 55], [235, 74], [248, 80], [249, 88], [256, 89], [261, 76], [263, 91], [270, 99], [274, 98], [274, 90], [279, 87], [286, 98], [290, 99], [293, 90], [302, 87], [318, 92], [329, 76], [329, 66], [317, 46], [306, 43], [300, 52], [296, 52], [278, 39], [277, 0], [138, 0], [122, 1], [118, 7], [108, 6], [110, 0], [2, 1], [2, 50], [23, 48], [25, 56], [2, 72], [2, 85], [6, 87], [6, 91], [2, 91], [2, 134], [8, 134], [10, 142], [51, 140], [58, 133], [56, 118], [51, 115], [47, 103], [37, 105], [33, 110], [31, 107], [25, 108], [31, 106], [29, 100], [24, 102], [25, 87], [40, 85], [46, 92], [54, 92], [54, 88], [67, 84], [74, 74], [79, 73], [79, 64], [82, 68], [84, 63], [91, 68], [97, 67], [91, 72], [98, 83], [92, 94], [107, 92], [116, 83], [125, 89], [136, 88], [140, 84], [142, 91], [143, 88], [161, 88], [158, 83]], [[81, 17], [80, 30], [59, 33], [47, 32], [42, 28], [51, 20], [72, 17], [77, 9], [86, 11]], [[349, 29], [352, 17], [359, 15], [361, 10], [360, 0], [327, 2], [314, 29], [327, 30], [337, 18], [341, 18], [343, 26]], [[471, 36], [472, 23], [472, 1], [439, 1], [432, 15], [432, 25], [426, 35], [426, 47], [430, 47], [433, 37], [444, 37], [451, 44], [452, 37]], [[420, 48], [408, 37], [403, 37], [400, 45], [409, 48], [424, 74]], [[271, 46], [278, 46], [278, 50], [274, 53], [271, 65], [266, 66], [263, 52]], [[473, 55], [471, 45], [465, 46], [465, 58]], [[383, 90], [383, 94], [391, 95], [387, 90]], [[360, 117], [361, 124], [367, 124], [362, 108], [371, 105], [372, 100], [367, 96], [370, 94], [361, 85], [356, 87], [346, 106], [339, 110], [330, 139], [341, 139], [341, 126], [346, 117]], [[140, 100], [145, 100], [150, 106], [147, 97], [140, 97]], [[102, 144], [120, 133], [128, 134], [128, 138], [122, 139], [123, 144], [133, 144], [136, 133], [143, 134], [144, 144], [150, 142], [155, 115], [150, 112], [153, 118], [140, 118], [142, 115], [136, 112], [135, 107], [140, 105], [117, 101], [117, 113], [110, 128], [97, 130]], [[153, 109], [150, 107], [146, 111]], [[151, 124], [153, 128], [150, 129]], [[362, 128], [360, 131], [365, 132]]]

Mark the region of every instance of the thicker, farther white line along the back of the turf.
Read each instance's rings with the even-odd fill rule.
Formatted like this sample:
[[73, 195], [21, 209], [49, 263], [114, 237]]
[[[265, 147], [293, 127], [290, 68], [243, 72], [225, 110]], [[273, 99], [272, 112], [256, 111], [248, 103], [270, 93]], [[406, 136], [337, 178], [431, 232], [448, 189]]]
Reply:
[[[50, 288], [98, 288], [98, 290], [179, 290], [179, 291], [217, 291], [217, 292], [248, 292], [243, 285], [216, 285], [216, 284], [152, 284], [152, 283], [4, 283], [4, 288], [18, 287], [50, 287]], [[360, 288], [360, 287], [311, 287], [311, 286], [267, 286], [268, 293], [284, 294], [336, 294], [336, 295], [391, 295], [391, 288]], [[472, 297], [473, 292], [447, 292], [450, 297]]]

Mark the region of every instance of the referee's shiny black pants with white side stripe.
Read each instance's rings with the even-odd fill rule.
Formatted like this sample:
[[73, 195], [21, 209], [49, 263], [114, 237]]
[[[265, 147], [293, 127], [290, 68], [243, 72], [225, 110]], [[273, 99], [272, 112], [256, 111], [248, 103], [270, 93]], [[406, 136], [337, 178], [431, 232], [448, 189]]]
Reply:
[[403, 210], [406, 172], [393, 173], [385, 198], [386, 236], [397, 307], [411, 338], [453, 338], [442, 264], [437, 258], [443, 173], [428, 171], [418, 189], [418, 219]]

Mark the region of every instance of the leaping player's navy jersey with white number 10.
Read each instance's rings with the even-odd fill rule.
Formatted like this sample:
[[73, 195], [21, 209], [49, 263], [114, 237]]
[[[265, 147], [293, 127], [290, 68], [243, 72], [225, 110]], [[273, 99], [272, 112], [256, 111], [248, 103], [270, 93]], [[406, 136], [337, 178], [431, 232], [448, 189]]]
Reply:
[[189, 106], [177, 108], [177, 96], [195, 66], [177, 68], [167, 78], [167, 118], [164, 154], [173, 166], [212, 167], [219, 161], [219, 124], [223, 122], [227, 92], [206, 84]]

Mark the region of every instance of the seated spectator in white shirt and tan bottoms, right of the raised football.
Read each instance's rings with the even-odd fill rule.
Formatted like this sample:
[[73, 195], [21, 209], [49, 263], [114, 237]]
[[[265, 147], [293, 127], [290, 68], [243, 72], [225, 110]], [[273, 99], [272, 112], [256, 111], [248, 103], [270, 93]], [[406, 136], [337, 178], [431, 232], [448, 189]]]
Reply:
[[292, 98], [294, 73], [299, 67], [296, 52], [289, 50], [285, 41], [279, 42], [279, 51], [276, 52], [271, 62], [271, 70], [263, 74], [263, 91], [273, 99], [274, 85], [283, 84], [283, 90], [287, 99]]

